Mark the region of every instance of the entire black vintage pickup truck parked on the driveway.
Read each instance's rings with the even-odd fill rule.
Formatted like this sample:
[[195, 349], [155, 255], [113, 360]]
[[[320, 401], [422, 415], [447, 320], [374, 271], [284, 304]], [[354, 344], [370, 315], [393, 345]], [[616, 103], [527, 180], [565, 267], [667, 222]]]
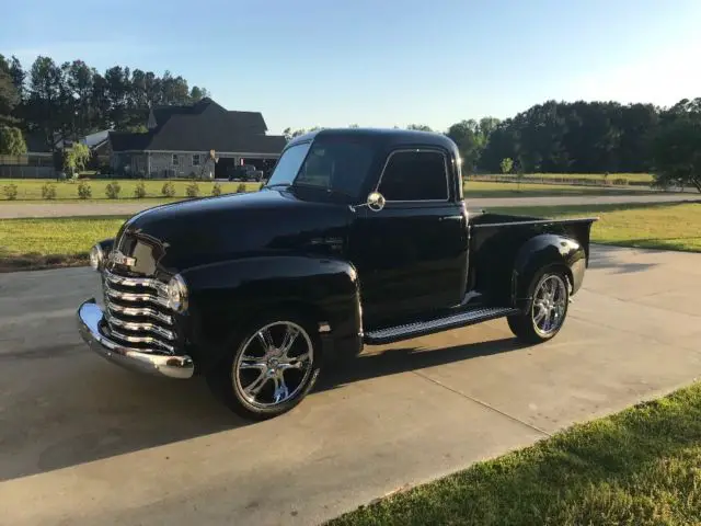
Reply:
[[269, 418], [364, 345], [496, 318], [553, 338], [594, 220], [469, 213], [439, 134], [321, 130], [291, 140], [258, 192], [157, 206], [96, 243], [102, 290], [78, 325], [112, 362], [205, 375], [235, 412]]

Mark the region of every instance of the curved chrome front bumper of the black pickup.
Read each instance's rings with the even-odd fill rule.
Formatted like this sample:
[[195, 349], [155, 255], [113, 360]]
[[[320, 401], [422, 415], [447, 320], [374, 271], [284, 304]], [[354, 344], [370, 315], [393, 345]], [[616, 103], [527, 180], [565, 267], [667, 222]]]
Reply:
[[195, 364], [189, 356], [168, 356], [164, 354], [145, 353], [140, 350], [125, 347], [100, 333], [99, 327], [104, 312], [89, 299], [78, 309], [78, 330], [85, 343], [103, 358], [127, 369], [169, 378], [186, 379], [195, 373]]

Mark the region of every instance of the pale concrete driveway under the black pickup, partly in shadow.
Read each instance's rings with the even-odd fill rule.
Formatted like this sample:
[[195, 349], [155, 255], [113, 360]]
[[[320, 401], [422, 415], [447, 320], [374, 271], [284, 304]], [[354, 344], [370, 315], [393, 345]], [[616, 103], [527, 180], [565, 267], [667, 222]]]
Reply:
[[245, 424], [203, 381], [90, 354], [84, 268], [0, 275], [0, 522], [318, 524], [701, 373], [701, 254], [595, 245], [566, 327], [505, 321], [368, 348], [294, 412]]

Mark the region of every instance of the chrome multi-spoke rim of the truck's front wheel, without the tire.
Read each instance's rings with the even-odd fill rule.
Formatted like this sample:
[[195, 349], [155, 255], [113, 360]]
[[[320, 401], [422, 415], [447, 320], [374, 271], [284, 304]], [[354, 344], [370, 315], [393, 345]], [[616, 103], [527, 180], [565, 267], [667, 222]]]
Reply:
[[299, 324], [276, 321], [246, 340], [233, 363], [234, 388], [255, 409], [272, 409], [297, 397], [312, 373], [314, 348]]

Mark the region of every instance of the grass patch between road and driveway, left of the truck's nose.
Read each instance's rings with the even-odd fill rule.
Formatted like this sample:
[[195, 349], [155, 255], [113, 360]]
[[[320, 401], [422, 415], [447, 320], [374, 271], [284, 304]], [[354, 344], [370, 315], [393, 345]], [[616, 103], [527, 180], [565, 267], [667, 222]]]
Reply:
[[0, 219], [0, 272], [84, 265], [95, 241], [113, 238], [125, 219]]

